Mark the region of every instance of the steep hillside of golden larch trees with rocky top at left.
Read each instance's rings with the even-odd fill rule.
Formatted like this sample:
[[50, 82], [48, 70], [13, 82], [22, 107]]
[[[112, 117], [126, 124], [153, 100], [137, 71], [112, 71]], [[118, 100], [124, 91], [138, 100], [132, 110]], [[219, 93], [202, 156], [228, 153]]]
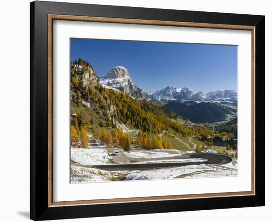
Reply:
[[109, 129], [125, 124], [146, 133], [161, 133], [169, 128], [184, 134], [189, 132], [175, 121], [179, 115], [173, 111], [103, 87], [91, 65], [83, 60], [71, 63], [71, 120], [73, 118], [77, 118], [79, 128], [90, 122]]

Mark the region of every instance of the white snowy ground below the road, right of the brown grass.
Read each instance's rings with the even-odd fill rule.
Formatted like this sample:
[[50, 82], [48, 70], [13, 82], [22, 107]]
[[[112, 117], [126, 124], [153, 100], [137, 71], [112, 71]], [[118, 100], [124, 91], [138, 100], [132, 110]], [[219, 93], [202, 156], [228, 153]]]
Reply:
[[146, 171], [132, 171], [125, 180], [160, 180], [173, 178], [206, 178], [237, 176], [237, 164], [225, 165], [189, 165], [175, 168], [155, 169]]

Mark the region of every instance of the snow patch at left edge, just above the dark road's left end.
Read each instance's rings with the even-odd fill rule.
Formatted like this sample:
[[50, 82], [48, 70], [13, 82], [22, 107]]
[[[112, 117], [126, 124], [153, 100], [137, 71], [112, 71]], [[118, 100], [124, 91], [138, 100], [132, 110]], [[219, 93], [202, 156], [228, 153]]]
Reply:
[[110, 156], [104, 149], [99, 148], [71, 148], [71, 160], [82, 165], [110, 164]]

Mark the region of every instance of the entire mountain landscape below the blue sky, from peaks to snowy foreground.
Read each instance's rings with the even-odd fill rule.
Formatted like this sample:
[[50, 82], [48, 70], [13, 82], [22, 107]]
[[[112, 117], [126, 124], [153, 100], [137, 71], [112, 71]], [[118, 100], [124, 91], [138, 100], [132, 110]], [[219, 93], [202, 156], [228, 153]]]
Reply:
[[[71, 62], [71, 183], [237, 175], [234, 90], [205, 94], [166, 86], [144, 92], [123, 66], [99, 76], [89, 62]], [[124, 163], [206, 161], [207, 152], [224, 154], [215, 158], [223, 158], [218, 161], [225, 167], [188, 164], [184, 172], [179, 167], [148, 171], [138, 164], [139, 170], [114, 170]]]

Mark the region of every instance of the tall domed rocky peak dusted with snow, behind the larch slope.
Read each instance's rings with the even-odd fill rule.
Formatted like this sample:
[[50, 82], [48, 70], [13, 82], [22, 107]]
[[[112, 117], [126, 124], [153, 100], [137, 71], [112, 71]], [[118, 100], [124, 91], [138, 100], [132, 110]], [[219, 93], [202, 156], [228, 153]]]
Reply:
[[106, 87], [124, 92], [134, 98], [144, 98], [142, 90], [132, 81], [125, 67], [117, 66], [99, 78], [100, 83]]

